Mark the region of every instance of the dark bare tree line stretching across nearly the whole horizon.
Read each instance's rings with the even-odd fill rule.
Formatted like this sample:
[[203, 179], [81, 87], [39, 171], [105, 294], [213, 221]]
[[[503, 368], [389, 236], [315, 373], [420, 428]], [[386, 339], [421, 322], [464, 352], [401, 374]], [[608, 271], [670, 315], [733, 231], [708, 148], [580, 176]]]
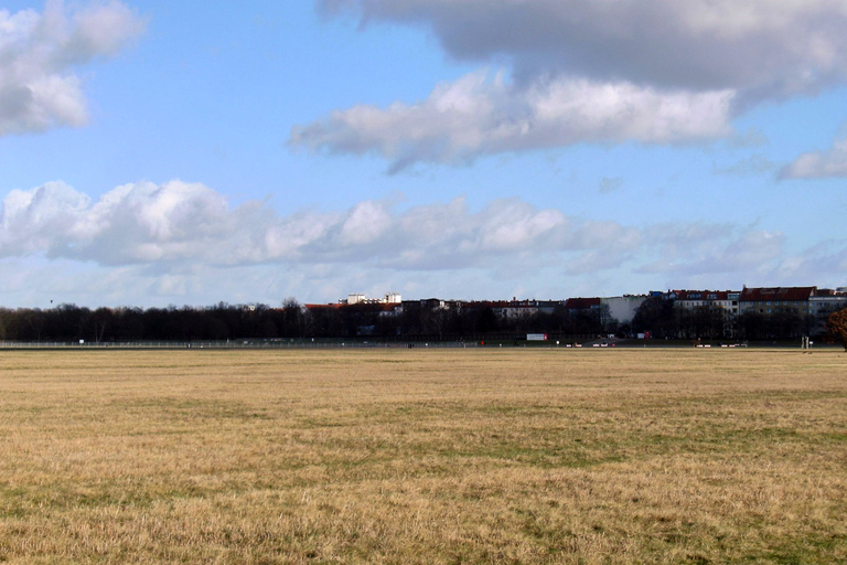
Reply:
[[60, 305], [51, 309], [0, 309], [0, 340], [77, 341], [222, 341], [235, 339], [518, 339], [547, 333], [551, 339], [633, 337], [651, 332], [656, 339], [770, 340], [808, 335], [810, 317], [794, 312], [737, 317], [716, 306], [683, 309], [673, 300], [650, 297], [629, 324], [620, 324], [608, 307], [566, 309], [514, 318], [498, 316], [484, 303], [441, 307], [427, 301], [404, 302], [400, 313], [382, 305], [303, 308], [294, 298], [280, 307], [219, 302], [210, 307], [97, 308]]

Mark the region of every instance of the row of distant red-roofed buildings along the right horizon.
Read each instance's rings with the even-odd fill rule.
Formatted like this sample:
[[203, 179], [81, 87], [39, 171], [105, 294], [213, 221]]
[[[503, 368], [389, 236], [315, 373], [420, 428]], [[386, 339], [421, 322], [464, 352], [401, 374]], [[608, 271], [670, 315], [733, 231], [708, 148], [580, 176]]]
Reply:
[[[383, 298], [368, 298], [352, 292], [337, 303], [307, 305], [312, 313], [324, 317], [343, 312], [377, 319], [404, 313], [428, 311], [440, 316], [447, 312], [483, 315], [490, 309], [500, 322], [508, 327], [534, 326], [538, 315], [556, 315], [553, 319], [537, 319], [537, 324], [557, 323], [558, 331], [581, 333], [617, 332], [621, 326], [632, 323], [642, 305], [651, 298], [661, 298], [674, 305], [669, 330], [677, 338], [707, 337], [785, 339], [815, 335], [825, 331], [827, 318], [847, 308], [847, 287], [837, 290], [817, 287], [762, 287], [742, 290], [658, 290], [646, 295], [624, 295], [608, 298], [569, 298], [567, 300], [444, 300], [426, 298], [404, 301], [399, 292]], [[667, 305], [666, 305], [667, 306]], [[335, 311], [335, 312], [333, 312]], [[625, 331], [625, 329], [624, 329]]]

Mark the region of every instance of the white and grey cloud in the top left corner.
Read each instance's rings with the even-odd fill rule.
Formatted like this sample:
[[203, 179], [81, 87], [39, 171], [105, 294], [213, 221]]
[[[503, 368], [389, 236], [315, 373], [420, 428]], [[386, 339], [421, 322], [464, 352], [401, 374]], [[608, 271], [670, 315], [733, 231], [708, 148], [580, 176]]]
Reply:
[[74, 70], [115, 55], [144, 28], [127, 6], [110, 1], [42, 13], [0, 10], [0, 135], [81, 126], [87, 119]]

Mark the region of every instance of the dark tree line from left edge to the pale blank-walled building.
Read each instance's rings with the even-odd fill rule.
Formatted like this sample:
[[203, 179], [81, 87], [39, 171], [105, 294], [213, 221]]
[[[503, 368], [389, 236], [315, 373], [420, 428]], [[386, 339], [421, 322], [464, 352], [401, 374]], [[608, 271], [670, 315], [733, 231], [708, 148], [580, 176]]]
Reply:
[[475, 339], [526, 332], [592, 335], [611, 328], [594, 312], [551, 313], [503, 319], [490, 307], [437, 308], [406, 302], [399, 315], [379, 305], [303, 308], [296, 299], [281, 307], [225, 302], [210, 307], [97, 308], [63, 303], [51, 309], [0, 308], [2, 341], [221, 341], [234, 339], [420, 338]]

